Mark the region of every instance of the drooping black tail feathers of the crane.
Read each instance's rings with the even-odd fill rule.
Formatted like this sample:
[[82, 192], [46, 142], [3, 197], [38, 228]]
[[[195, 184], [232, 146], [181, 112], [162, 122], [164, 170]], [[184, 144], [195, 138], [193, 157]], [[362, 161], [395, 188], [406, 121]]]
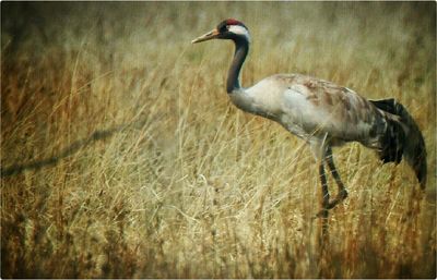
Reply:
[[[386, 163], [394, 161], [399, 163], [404, 156], [406, 162], [416, 173], [422, 188], [426, 186], [426, 148], [423, 135], [406, 111], [394, 99], [370, 100], [377, 108], [388, 112], [388, 127], [381, 139], [382, 150], [380, 159]], [[392, 114], [392, 115], [390, 115]]]

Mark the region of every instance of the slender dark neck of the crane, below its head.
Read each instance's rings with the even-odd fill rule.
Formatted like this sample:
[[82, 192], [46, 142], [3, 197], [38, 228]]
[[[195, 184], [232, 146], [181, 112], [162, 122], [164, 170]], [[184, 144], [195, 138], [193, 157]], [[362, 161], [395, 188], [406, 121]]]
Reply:
[[239, 72], [249, 52], [249, 41], [246, 38], [234, 38], [233, 41], [235, 42], [235, 53], [227, 74], [226, 92], [228, 94], [241, 87], [239, 84]]

